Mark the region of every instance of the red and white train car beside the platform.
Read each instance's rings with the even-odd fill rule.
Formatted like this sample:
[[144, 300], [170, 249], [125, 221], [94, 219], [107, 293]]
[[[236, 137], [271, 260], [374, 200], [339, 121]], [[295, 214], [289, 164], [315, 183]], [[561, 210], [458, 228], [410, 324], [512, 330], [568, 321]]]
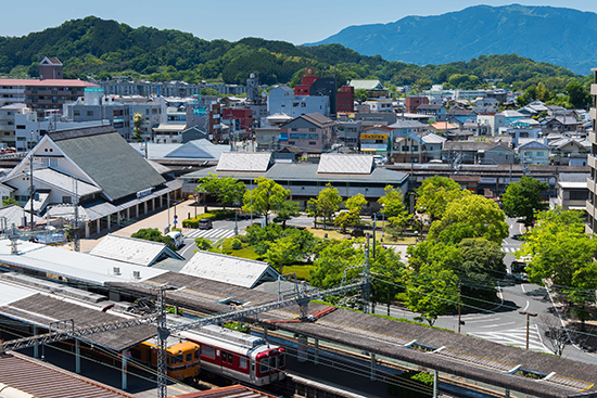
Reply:
[[201, 367], [256, 386], [284, 378], [285, 351], [265, 339], [208, 325], [180, 333], [201, 346]]

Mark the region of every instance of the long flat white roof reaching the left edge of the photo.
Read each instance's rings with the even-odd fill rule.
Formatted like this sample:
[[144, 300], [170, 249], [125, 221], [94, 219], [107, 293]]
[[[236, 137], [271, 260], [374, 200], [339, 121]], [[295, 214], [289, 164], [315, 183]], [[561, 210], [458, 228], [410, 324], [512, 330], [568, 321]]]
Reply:
[[[17, 255], [11, 254], [10, 246], [9, 240], [0, 240], [0, 262], [96, 285], [142, 282], [167, 272], [27, 241], [18, 242]], [[118, 273], [114, 272], [115, 268]], [[140, 278], [134, 278], [132, 271], [139, 271]]]

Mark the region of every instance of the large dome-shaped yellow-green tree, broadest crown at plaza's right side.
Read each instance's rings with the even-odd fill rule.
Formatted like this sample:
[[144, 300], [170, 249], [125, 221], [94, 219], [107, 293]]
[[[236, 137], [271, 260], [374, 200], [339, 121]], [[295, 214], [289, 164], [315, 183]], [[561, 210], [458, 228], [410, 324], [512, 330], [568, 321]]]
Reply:
[[457, 227], [465, 227], [474, 233], [473, 236], [463, 235], [462, 237], [484, 237], [499, 244], [508, 236], [508, 224], [504, 221], [505, 218], [504, 211], [494, 201], [481, 195], [465, 195], [446, 206], [441, 220], [433, 221], [429, 230], [429, 239], [458, 243], [454, 241], [452, 232], [454, 226], [460, 223], [463, 226]]

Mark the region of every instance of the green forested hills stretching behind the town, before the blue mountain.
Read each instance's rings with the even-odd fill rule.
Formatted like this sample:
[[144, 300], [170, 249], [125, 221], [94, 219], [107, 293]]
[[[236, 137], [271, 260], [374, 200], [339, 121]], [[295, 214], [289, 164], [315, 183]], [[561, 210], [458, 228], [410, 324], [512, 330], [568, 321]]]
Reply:
[[296, 84], [305, 67], [314, 67], [320, 76], [336, 76], [339, 84], [379, 78], [395, 86], [429, 88], [445, 84], [466, 89], [497, 79], [498, 85], [513, 88], [543, 81], [552, 90], [581, 78], [566, 68], [515, 54], [417, 66], [389, 62], [379, 55], [364, 56], [340, 44], [296, 47], [257, 38], [206, 41], [178, 30], [131, 28], [93, 16], [24, 37], [0, 37], [0, 75], [37, 76], [43, 56], [59, 57], [65, 77], [81, 79], [125, 75], [155, 81], [213, 79], [244, 84], [250, 73], [257, 73], [266, 85]]

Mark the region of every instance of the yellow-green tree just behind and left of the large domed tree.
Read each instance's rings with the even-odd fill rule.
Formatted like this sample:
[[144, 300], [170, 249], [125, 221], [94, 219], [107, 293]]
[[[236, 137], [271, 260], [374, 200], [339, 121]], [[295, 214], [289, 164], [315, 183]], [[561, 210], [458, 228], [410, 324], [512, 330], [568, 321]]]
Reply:
[[453, 179], [440, 176], [427, 178], [417, 190], [417, 210], [437, 220], [444, 215], [448, 203], [468, 194], [470, 192], [463, 191]]

